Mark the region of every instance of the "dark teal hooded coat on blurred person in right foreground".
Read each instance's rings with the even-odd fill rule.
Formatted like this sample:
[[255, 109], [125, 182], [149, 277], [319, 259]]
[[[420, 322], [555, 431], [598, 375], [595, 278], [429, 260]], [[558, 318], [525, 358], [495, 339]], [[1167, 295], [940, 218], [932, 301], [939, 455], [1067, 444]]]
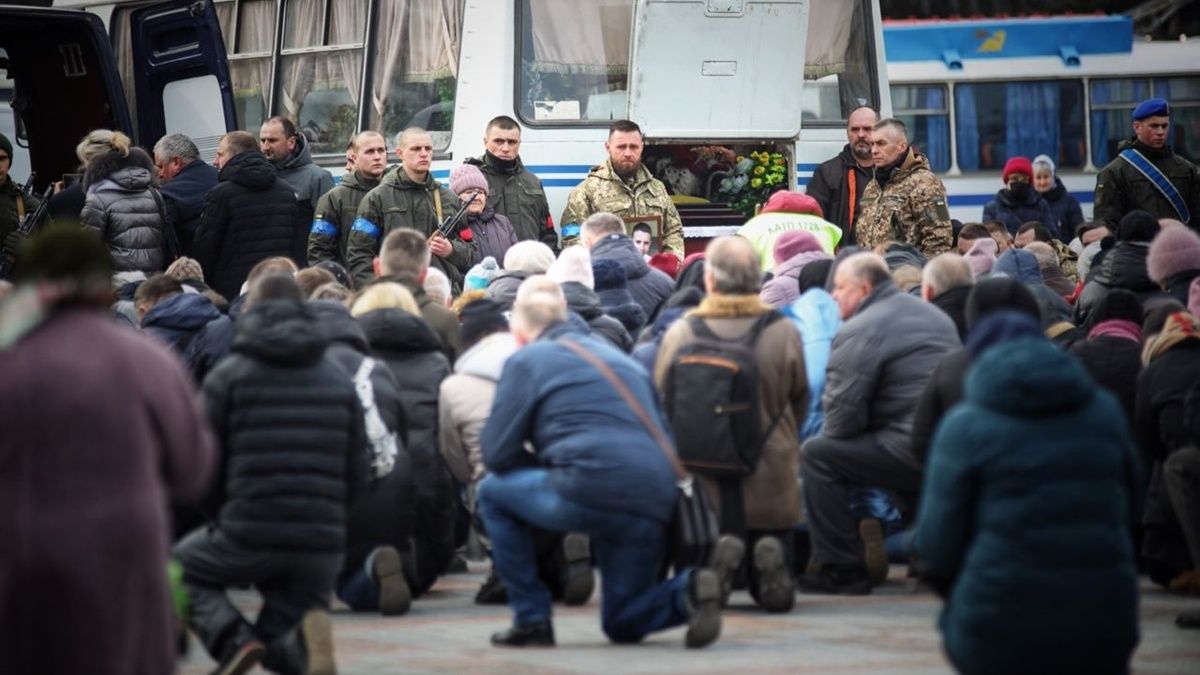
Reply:
[[1139, 473], [1120, 406], [1070, 354], [1042, 339], [983, 353], [934, 437], [913, 538], [949, 590], [960, 671], [1128, 671]]

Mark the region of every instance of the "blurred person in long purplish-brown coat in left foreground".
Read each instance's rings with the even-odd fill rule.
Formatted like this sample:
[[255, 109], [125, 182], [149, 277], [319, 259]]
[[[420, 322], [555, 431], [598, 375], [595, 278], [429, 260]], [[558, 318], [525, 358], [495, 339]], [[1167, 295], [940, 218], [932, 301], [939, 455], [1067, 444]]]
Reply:
[[94, 233], [35, 235], [16, 271], [0, 316], [0, 673], [172, 673], [167, 498], [198, 496], [214, 460], [194, 388], [109, 317]]

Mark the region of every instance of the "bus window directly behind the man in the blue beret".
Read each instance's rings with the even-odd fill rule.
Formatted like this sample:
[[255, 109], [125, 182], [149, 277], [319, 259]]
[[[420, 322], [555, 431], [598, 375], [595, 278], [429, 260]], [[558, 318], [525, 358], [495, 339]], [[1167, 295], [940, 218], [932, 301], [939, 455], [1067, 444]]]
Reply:
[[1200, 157], [1200, 78], [1096, 79], [1091, 83], [1092, 163], [1103, 167], [1117, 156], [1122, 141], [1133, 137], [1129, 114], [1152, 96], [1171, 103], [1168, 143], [1180, 155]]

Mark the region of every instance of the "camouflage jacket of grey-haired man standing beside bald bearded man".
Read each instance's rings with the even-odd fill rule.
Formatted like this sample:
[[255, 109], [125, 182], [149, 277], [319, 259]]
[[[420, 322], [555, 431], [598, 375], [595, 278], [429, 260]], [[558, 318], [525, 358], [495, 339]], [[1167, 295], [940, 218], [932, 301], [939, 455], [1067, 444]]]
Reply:
[[950, 250], [946, 186], [929, 171], [925, 155], [910, 149], [887, 185], [880, 187], [878, 180], [866, 185], [854, 234], [868, 250], [888, 241], [910, 244], [928, 257]]

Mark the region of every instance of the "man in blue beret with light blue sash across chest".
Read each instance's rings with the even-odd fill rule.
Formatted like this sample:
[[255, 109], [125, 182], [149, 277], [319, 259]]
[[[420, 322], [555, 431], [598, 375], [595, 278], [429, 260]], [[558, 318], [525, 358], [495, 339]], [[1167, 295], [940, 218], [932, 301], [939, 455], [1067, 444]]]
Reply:
[[[1096, 177], [1094, 217], [1109, 229], [1115, 231], [1121, 219], [1136, 209], [1156, 219], [1178, 219], [1193, 231], [1200, 229], [1200, 168], [1171, 151], [1166, 144], [1170, 126], [1171, 109], [1165, 100], [1150, 98], [1134, 108], [1133, 138], [1121, 142], [1121, 154]], [[1178, 192], [1180, 205], [1187, 214], [1180, 213], [1134, 162], [1147, 163], [1165, 177]]]

